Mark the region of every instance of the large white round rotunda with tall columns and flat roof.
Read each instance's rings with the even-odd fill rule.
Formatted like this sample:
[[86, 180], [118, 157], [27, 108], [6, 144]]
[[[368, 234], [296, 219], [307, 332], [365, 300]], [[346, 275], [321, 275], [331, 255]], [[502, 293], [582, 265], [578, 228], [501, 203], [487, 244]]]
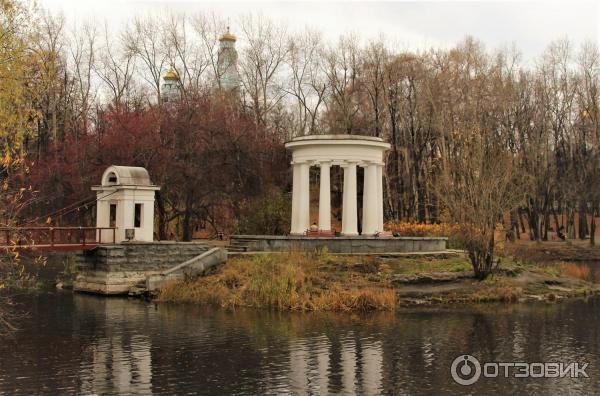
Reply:
[[320, 168], [319, 230], [331, 230], [332, 166], [344, 169], [342, 235], [358, 235], [357, 167], [364, 168], [362, 235], [383, 231], [383, 166], [390, 144], [381, 138], [358, 135], [307, 135], [285, 144], [292, 152], [293, 191], [291, 234], [310, 228], [311, 166]]

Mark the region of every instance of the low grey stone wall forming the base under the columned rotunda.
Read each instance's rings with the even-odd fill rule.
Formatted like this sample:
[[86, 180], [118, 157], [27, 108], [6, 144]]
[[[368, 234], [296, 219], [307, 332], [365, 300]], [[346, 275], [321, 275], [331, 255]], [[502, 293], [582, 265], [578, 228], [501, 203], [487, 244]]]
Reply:
[[231, 244], [245, 246], [248, 251], [255, 252], [315, 251], [326, 247], [331, 253], [427, 253], [445, 251], [447, 239], [233, 235]]

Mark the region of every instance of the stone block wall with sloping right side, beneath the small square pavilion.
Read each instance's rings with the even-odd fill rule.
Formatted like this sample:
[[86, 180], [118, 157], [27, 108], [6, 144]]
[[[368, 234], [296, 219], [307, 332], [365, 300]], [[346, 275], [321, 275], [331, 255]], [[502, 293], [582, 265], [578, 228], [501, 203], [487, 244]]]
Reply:
[[130, 242], [106, 245], [76, 256], [76, 291], [127, 294], [159, 274], [209, 250], [196, 242]]

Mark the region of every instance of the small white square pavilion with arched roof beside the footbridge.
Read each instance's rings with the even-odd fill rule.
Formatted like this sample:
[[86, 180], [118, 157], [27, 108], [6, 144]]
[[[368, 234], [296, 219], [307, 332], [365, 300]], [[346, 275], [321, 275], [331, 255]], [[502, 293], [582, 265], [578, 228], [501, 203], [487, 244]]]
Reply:
[[[154, 195], [160, 187], [150, 182], [145, 168], [109, 166], [96, 191], [96, 227], [115, 227], [115, 243], [152, 242], [154, 239]], [[101, 240], [110, 241], [112, 230], [102, 230]]]

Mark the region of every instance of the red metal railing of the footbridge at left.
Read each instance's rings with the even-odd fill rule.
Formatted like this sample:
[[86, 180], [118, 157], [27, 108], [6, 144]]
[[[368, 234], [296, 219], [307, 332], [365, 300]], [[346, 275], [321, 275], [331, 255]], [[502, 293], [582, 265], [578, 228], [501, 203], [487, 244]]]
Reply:
[[115, 243], [116, 228], [0, 227], [0, 238], [0, 248], [4, 249], [88, 250]]

